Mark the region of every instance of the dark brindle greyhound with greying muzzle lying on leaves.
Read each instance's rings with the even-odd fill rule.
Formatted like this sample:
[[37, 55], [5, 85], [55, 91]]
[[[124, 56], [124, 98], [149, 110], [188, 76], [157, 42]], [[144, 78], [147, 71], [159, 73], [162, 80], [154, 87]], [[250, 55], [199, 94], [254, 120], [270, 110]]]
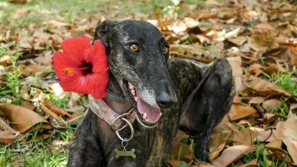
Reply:
[[[101, 40], [109, 57], [107, 89], [129, 102], [103, 100], [119, 114], [131, 108], [136, 111], [135, 135], [126, 147], [136, 150], [136, 158], [115, 158], [114, 150], [123, 150], [121, 140], [108, 123], [88, 109], [72, 138], [67, 167], [162, 167], [179, 128], [201, 134], [195, 155], [210, 162], [209, 136], [230, 110], [235, 95], [228, 61], [220, 58], [210, 67], [199, 68], [169, 58], [169, 45], [161, 33], [143, 21], [103, 21], [94, 40]], [[135, 87], [137, 100], [128, 82]], [[129, 138], [130, 129], [120, 135]]]

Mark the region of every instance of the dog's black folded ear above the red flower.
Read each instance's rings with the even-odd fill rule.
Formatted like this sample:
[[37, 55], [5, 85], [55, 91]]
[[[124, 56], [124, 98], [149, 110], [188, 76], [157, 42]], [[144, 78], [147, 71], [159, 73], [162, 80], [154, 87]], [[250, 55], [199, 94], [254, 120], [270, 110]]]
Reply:
[[[109, 46], [109, 34], [112, 31], [113, 27], [118, 23], [118, 21], [115, 20], [105, 20], [98, 24], [98, 26], [95, 29], [94, 33], [94, 41], [100, 40], [104, 47], [107, 50], [110, 50]], [[94, 44], [93, 41], [93, 44]]]

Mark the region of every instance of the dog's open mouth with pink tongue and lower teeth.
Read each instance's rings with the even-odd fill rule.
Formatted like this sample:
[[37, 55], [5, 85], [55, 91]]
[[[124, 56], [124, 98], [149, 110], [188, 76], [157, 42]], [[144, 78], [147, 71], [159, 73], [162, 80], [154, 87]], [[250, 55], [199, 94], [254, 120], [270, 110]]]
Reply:
[[147, 126], [154, 126], [157, 124], [161, 116], [161, 111], [159, 107], [154, 107], [146, 103], [141, 99], [141, 97], [137, 94], [134, 86], [130, 82], [126, 82], [126, 87], [128, 94], [130, 95], [130, 99], [135, 103], [137, 106], [137, 116], [139, 120], [147, 125]]

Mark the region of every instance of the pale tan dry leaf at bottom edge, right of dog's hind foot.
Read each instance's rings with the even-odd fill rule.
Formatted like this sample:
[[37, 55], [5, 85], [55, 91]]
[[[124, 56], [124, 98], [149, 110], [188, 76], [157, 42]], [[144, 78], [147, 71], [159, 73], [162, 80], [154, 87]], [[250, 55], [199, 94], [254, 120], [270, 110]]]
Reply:
[[254, 151], [256, 147], [248, 147], [248, 146], [231, 146], [227, 148], [223, 154], [213, 161], [213, 165], [217, 167], [228, 167], [233, 162], [244, 157], [243, 153], [250, 153]]

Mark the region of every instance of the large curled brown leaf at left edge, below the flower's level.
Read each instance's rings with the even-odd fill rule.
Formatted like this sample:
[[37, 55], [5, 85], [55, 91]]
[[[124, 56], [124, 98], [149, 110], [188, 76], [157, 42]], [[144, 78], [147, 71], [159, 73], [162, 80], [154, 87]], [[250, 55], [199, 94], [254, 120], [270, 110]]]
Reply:
[[0, 105], [0, 110], [9, 118], [10, 121], [15, 122], [12, 128], [23, 133], [31, 132], [36, 129], [36, 125], [40, 124], [40, 128], [51, 129], [51, 125], [42, 116], [34, 111], [16, 105]]

